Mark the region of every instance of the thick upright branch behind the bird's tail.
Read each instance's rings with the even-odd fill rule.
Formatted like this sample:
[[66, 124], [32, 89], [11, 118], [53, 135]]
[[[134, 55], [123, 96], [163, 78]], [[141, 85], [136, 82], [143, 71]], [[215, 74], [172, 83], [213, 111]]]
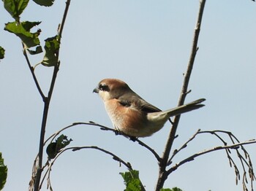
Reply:
[[[181, 106], [184, 104], [186, 95], [187, 95], [187, 89], [188, 89], [188, 85], [189, 85], [189, 79], [192, 73], [192, 68], [193, 68], [193, 64], [195, 61], [195, 55], [197, 53], [198, 47], [197, 47], [197, 42], [198, 42], [198, 37], [199, 37], [199, 33], [200, 33], [200, 26], [201, 26], [201, 22], [202, 22], [202, 17], [203, 17], [203, 9], [204, 6], [206, 4], [206, 0], [200, 0], [200, 6], [199, 6], [199, 12], [198, 12], [198, 16], [197, 16], [197, 23], [195, 26], [195, 33], [194, 33], [194, 37], [193, 37], [193, 42], [192, 42], [192, 51], [190, 54], [190, 58], [189, 58], [189, 63], [187, 66], [187, 71], [186, 74], [184, 74], [184, 82], [181, 88], [181, 95], [180, 98], [178, 100], [178, 106]], [[159, 177], [157, 180], [157, 186], [156, 186], [156, 190], [159, 191], [164, 183], [165, 180], [167, 179], [167, 172], [166, 172], [166, 166], [167, 166], [167, 160], [168, 157], [170, 155], [170, 149], [173, 146], [173, 141], [175, 139], [176, 136], [176, 130], [178, 127], [178, 122], [180, 119], [180, 115], [174, 117], [173, 120], [173, 125], [172, 128], [170, 130], [170, 134], [169, 137], [167, 139], [167, 143], [165, 145], [165, 151], [162, 155], [162, 160], [159, 162]]]

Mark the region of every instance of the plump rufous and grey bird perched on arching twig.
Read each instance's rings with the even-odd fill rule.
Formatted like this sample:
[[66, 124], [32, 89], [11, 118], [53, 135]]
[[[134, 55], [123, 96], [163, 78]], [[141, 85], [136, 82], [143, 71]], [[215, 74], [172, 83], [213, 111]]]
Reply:
[[170, 117], [199, 109], [206, 99], [162, 111], [149, 104], [120, 79], [102, 79], [93, 93], [98, 93], [118, 132], [130, 137], [151, 136], [160, 130]]

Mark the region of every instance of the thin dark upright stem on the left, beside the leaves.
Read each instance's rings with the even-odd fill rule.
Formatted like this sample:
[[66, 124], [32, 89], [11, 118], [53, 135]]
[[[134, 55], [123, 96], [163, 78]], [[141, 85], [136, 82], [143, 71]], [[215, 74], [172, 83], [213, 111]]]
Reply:
[[[70, 4], [71, 0], [67, 0], [66, 1], [66, 8], [64, 10], [64, 15], [62, 17], [62, 21], [61, 21], [61, 26], [59, 28], [59, 43], [61, 42], [61, 35], [62, 35], [62, 31], [64, 28], [64, 23], [67, 17], [67, 12], [69, 9], [69, 4]], [[56, 77], [59, 71], [59, 50], [56, 52], [56, 58], [57, 58], [57, 63], [54, 66], [53, 69], [53, 77], [52, 80], [50, 82], [50, 88], [49, 88], [49, 92], [48, 92], [48, 97], [45, 97], [43, 99], [44, 101], [44, 111], [43, 111], [43, 115], [42, 115], [42, 125], [41, 125], [41, 133], [40, 133], [40, 140], [39, 140], [39, 152], [38, 152], [38, 157], [37, 157], [37, 169], [35, 172], [35, 177], [34, 177], [34, 191], [39, 190], [39, 183], [40, 183], [40, 179], [41, 179], [41, 175], [42, 175], [42, 157], [43, 157], [43, 148], [44, 148], [44, 142], [45, 142], [45, 128], [46, 128], [46, 122], [47, 122], [47, 118], [48, 118], [48, 111], [49, 111], [49, 105], [50, 105], [50, 99], [52, 97], [53, 94], [53, 88], [56, 82]], [[33, 177], [32, 177], [33, 179]]]

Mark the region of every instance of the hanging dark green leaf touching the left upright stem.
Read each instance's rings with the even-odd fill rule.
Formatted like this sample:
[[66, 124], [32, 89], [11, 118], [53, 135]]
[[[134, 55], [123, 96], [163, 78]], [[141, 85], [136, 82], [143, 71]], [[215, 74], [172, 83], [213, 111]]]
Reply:
[[59, 52], [59, 36], [45, 39], [45, 56], [42, 60], [43, 66], [56, 66], [58, 63], [57, 52]]

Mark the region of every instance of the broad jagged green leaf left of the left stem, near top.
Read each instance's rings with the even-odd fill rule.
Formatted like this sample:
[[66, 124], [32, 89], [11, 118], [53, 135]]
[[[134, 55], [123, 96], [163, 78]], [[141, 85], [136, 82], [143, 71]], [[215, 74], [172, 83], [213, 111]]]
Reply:
[[40, 44], [39, 34], [41, 30], [37, 30], [35, 33], [31, 33], [30, 29], [34, 26], [38, 26], [41, 22], [29, 22], [22, 23], [12, 22], [5, 24], [4, 30], [9, 31], [20, 37], [21, 41], [25, 44], [26, 48], [35, 47]]

